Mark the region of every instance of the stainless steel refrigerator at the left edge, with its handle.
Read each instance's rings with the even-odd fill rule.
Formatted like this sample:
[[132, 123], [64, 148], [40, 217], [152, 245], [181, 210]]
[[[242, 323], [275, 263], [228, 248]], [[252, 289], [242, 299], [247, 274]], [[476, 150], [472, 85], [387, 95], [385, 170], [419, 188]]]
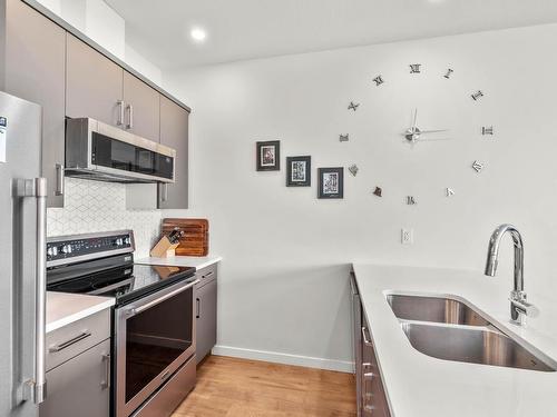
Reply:
[[46, 396], [46, 180], [41, 107], [0, 91], [0, 416]]

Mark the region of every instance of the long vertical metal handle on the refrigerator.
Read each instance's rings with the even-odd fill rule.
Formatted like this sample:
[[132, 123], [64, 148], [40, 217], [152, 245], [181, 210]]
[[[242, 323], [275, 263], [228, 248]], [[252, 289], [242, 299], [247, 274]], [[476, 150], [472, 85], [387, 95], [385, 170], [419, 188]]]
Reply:
[[37, 200], [37, 236], [35, 262], [36, 271], [36, 317], [35, 317], [35, 376], [23, 383], [23, 396], [27, 400], [41, 404], [47, 397], [46, 379], [46, 297], [47, 297], [47, 179], [21, 179], [17, 182], [20, 198]]

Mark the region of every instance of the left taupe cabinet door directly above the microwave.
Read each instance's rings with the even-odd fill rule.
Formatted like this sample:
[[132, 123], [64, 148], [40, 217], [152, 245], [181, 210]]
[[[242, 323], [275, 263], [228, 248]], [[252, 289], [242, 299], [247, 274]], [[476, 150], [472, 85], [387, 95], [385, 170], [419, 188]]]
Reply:
[[124, 125], [124, 69], [68, 33], [66, 116]]

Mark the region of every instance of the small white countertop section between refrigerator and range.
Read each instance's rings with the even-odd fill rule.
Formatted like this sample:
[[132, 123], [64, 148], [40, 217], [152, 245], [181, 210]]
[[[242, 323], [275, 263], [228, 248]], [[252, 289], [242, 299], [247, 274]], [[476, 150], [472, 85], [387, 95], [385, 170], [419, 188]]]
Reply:
[[114, 306], [115, 299], [47, 291], [47, 334]]

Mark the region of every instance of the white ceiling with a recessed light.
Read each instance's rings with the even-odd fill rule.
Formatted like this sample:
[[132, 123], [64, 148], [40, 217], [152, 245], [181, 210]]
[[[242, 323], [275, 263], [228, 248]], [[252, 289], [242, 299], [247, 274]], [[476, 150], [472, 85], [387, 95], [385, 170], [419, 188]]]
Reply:
[[[556, 0], [106, 0], [164, 69], [557, 22]], [[189, 38], [207, 31], [204, 43]]]

